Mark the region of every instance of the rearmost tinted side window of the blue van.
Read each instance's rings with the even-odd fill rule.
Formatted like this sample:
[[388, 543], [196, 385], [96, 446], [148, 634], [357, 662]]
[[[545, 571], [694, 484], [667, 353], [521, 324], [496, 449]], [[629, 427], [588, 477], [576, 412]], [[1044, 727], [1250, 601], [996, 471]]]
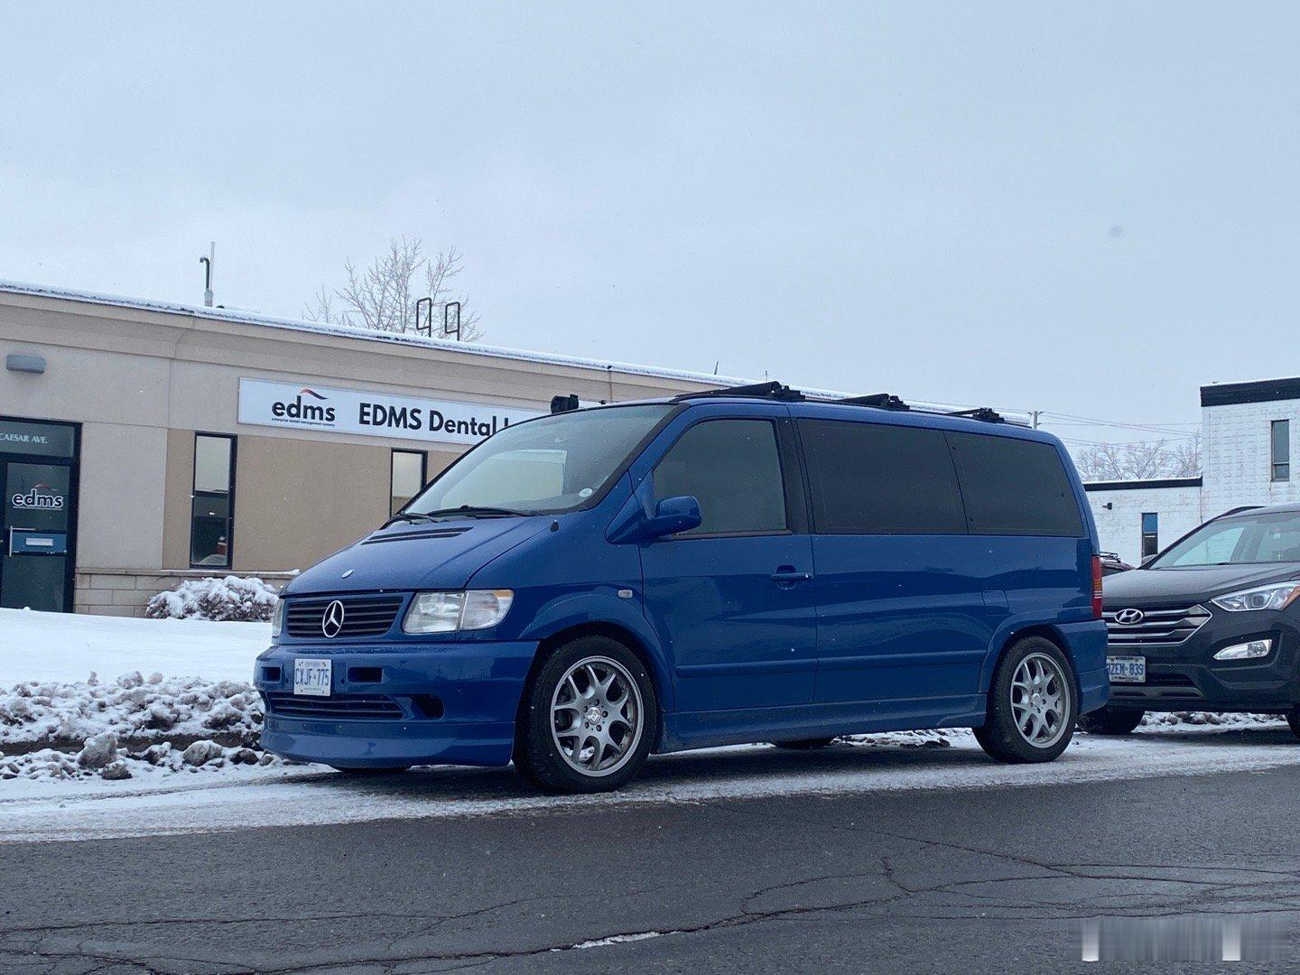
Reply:
[[1056, 447], [978, 433], [949, 433], [948, 442], [971, 534], [1083, 534]]

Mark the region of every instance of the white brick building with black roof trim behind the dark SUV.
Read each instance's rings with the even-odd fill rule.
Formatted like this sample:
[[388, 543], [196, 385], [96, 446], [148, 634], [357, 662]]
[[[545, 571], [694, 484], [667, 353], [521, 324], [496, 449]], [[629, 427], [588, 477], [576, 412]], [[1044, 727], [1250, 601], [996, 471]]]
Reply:
[[1101, 547], [1136, 566], [1231, 508], [1300, 500], [1296, 428], [1300, 378], [1201, 386], [1201, 477], [1088, 484]]

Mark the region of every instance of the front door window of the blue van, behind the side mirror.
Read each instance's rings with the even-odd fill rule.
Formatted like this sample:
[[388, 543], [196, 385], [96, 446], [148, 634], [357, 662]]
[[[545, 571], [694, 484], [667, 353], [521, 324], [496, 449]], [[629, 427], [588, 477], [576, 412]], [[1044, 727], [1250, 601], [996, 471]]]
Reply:
[[[694, 495], [703, 523], [692, 534], [784, 532], [785, 486], [768, 420], [706, 420], [654, 469], [655, 500]], [[679, 536], [681, 537], [681, 536]]]

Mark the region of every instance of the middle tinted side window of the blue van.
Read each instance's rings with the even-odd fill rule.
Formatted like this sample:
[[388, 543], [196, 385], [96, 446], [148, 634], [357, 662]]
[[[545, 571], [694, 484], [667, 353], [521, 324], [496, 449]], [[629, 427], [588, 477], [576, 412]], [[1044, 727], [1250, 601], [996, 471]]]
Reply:
[[838, 420], [798, 425], [816, 532], [966, 533], [942, 432]]

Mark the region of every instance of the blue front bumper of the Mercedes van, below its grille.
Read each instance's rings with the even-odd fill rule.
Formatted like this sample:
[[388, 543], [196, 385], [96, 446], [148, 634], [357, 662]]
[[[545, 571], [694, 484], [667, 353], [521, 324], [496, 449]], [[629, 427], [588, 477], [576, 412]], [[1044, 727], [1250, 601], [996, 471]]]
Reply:
[[[504, 766], [536, 642], [286, 644], [257, 658], [261, 744], [344, 768]], [[295, 697], [294, 658], [332, 662], [329, 697]]]

